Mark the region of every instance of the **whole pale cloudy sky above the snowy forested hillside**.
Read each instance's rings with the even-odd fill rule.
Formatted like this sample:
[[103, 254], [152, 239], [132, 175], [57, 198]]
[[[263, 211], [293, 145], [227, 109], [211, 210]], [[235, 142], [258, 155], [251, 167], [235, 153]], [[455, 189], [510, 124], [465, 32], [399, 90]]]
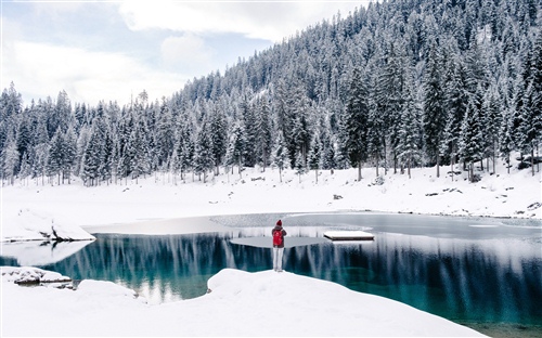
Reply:
[[91, 105], [143, 89], [154, 101], [367, 2], [2, 0], [1, 86], [25, 105], [61, 90]]

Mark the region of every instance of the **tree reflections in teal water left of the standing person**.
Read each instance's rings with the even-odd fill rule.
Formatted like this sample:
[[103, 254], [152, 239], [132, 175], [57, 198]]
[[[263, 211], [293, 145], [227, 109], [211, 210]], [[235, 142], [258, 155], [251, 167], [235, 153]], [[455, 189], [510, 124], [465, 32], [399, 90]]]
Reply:
[[[220, 234], [99, 235], [89, 247], [44, 268], [73, 278], [114, 281], [133, 289], [173, 290], [191, 298], [203, 295], [208, 277], [223, 268], [270, 269], [268, 250], [253, 248], [249, 255], [246, 251]], [[194, 289], [193, 284], [198, 287]]]

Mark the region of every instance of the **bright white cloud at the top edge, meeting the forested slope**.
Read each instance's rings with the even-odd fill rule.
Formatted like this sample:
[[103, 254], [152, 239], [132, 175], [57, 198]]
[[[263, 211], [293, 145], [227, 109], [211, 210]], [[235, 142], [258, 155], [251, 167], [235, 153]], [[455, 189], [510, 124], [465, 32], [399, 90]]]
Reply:
[[[308, 25], [346, 16], [363, 1], [125, 1], [119, 13], [133, 30], [235, 32], [273, 42]], [[365, 1], [367, 2], [367, 1]]]

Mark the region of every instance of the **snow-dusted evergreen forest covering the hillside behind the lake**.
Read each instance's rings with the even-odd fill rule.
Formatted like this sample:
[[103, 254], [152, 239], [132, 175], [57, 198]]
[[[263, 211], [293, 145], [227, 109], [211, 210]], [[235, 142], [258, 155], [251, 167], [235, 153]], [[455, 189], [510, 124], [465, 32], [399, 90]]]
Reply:
[[[1, 177], [87, 185], [220, 168], [406, 170], [474, 164], [542, 141], [537, 0], [405, 0], [337, 14], [170, 98], [0, 98]], [[482, 159], [486, 159], [486, 165]], [[491, 168], [492, 164], [492, 168]], [[318, 176], [317, 176], [318, 177]]]

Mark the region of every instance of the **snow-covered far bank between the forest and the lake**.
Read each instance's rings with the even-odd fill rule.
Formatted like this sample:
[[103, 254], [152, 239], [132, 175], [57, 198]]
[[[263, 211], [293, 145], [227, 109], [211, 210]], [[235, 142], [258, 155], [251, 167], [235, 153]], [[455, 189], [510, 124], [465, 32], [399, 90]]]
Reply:
[[168, 174], [94, 187], [80, 181], [62, 186], [17, 183], [2, 187], [1, 238], [43, 238], [51, 225], [85, 238], [80, 226], [235, 213], [374, 210], [542, 219], [541, 174], [516, 167], [508, 174], [500, 164], [495, 174], [480, 173], [477, 183], [462, 176], [452, 181], [448, 167], [440, 178], [436, 168], [413, 169], [411, 179], [389, 171], [383, 184], [374, 183], [372, 168], [363, 170], [360, 182], [357, 169], [321, 171], [318, 182], [314, 171], [299, 177], [285, 170], [281, 182], [276, 169], [249, 168], [242, 177], [221, 172], [207, 183], [189, 176], [177, 185]]

